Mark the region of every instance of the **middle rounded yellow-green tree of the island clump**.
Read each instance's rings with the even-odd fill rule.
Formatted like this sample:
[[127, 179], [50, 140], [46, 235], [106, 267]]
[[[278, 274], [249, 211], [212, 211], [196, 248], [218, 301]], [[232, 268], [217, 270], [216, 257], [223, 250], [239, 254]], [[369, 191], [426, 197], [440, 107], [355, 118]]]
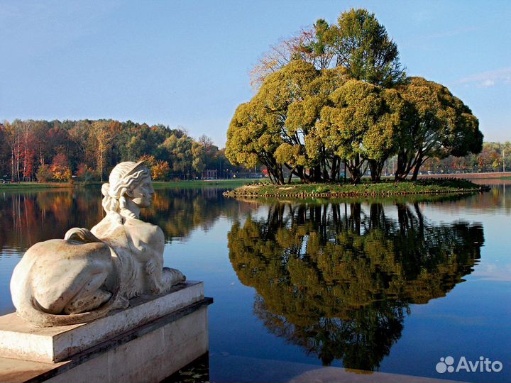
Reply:
[[317, 135], [345, 161], [352, 182], [360, 182], [368, 166], [379, 181], [385, 160], [397, 149], [405, 109], [396, 91], [351, 79], [329, 97]]

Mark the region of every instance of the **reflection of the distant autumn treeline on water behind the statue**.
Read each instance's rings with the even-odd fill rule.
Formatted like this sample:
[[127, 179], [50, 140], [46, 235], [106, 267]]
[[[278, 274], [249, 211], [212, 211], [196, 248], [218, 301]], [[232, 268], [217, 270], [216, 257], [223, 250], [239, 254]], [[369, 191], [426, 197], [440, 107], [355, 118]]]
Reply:
[[[186, 238], [194, 228], [207, 230], [221, 216], [237, 218], [252, 208], [224, 199], [222, 189], [158, 189], [154, 204], [142, 212], [145, 221], [160, 226], [167, 241]], [[101, 191], [97, 188], [11, 192], [0, 195], [0, 256], [19, 254], [34, 243], [63, 238], [72, 227], [92, 228], [101, 221]]]

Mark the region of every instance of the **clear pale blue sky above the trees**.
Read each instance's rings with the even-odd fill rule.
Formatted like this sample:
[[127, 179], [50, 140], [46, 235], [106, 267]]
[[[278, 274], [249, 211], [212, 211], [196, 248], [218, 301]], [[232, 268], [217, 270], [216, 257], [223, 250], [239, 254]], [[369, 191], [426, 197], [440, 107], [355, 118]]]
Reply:
[[511, 140], [511, 1], [0, 0], [0, 121], [114, 118], [182, 126], [223, 147], [248, 72], [317, 18], [374, 12], [407, 74]]

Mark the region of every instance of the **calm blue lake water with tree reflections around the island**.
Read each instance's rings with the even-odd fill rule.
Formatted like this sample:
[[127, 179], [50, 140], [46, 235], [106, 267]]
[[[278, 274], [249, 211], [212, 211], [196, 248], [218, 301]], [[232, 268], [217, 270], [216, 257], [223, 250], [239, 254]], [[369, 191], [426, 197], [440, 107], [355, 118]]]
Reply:
[[[212, 381], [264, 368], [285, 382], [318, 365], [509, 381], [511, 182], [429, 200], [256, 203], [222, 191], [157, 189], [143, 212], [165, 232], [165, 265], [215, 299]], [[99, 189], [0, 191], [0, 314], [14, 311], [9, 281], [26, 249], [102, 214]], [[439, 374], [449, 355], [503, 369]]]

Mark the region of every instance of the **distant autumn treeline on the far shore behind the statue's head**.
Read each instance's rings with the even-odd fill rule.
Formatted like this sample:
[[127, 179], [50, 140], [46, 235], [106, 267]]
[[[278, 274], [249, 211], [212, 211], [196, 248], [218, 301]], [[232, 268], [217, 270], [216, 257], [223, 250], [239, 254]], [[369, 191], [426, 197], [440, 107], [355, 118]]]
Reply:
[[[231, 177], [241, 169], [210, 138], [182, 128], [114, 120], [0, 123], [0, 177], [18, 181], [104, 180], [121, 161], [148, 162], [155, 179]], [[215, 174], [215, 172], [209, 172]], [[72, 177], [72, 176], [75, 177]]]

